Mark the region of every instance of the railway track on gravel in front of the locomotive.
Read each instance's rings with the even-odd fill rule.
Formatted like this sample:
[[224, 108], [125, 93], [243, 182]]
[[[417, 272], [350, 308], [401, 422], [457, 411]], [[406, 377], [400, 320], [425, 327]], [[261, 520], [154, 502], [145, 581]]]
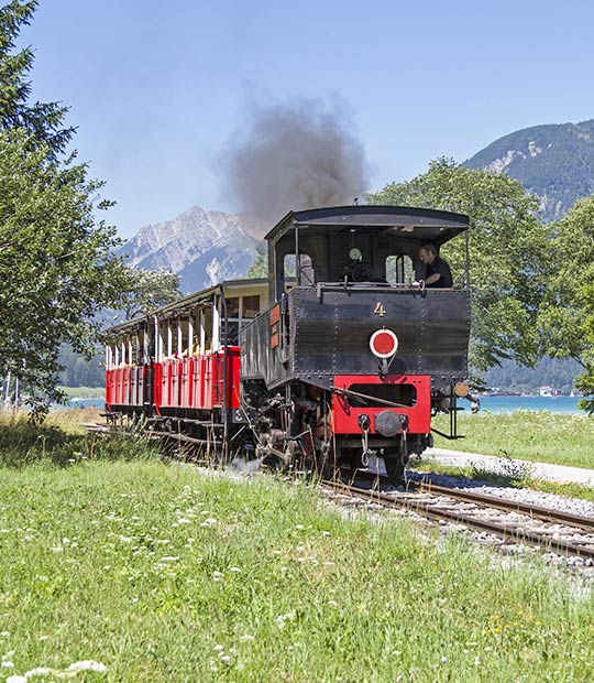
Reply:
[[[374, 479], [382, 481], [377, 475]], [[477, 529], [508, 543], [525, 543], [594, 564], [593, 519], [422, 481], [408, 483], [405, 491], [389, 492], [337, 480], [322, 484], [334, 492], [386, 508], [404, 508], [428, 519]]]

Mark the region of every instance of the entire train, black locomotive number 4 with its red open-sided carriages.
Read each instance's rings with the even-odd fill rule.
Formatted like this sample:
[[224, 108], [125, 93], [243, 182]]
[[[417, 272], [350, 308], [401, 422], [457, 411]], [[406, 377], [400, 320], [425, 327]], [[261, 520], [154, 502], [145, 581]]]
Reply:
[[[290, 212], [270, 278], [221, 282], [107, 330], [106, 410], [207, 452], [393, 479], [466, 397], [469, 219], [395, 206]], [[465, 239], [447, 289], [413, 286], [419, 247]], [[433, 429], [435, 431], [435, 429]]]

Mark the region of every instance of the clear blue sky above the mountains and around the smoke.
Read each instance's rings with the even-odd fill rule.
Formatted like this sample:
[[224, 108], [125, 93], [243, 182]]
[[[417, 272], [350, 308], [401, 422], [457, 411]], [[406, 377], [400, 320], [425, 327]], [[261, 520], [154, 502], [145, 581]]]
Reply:
[[[220, 158], [248, 102], [341, 98], [370, 189], [540, 123], [594, 118], [586, 0], [41, 0], [22, 43], [62, 100], [123, 237], [232, 212]], [[292, 207], [287, 207], [287, 210]]]

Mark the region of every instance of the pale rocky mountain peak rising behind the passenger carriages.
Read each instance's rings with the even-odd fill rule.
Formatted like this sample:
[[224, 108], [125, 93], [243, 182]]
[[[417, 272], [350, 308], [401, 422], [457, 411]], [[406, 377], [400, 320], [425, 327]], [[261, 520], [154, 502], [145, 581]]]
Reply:
[[150, 225], [120, 248], [129, 265], [169, 270], [184, 293], [241, 278], [257, 256], [263, 229], [244, 214], [194, 206], [173, 220]]

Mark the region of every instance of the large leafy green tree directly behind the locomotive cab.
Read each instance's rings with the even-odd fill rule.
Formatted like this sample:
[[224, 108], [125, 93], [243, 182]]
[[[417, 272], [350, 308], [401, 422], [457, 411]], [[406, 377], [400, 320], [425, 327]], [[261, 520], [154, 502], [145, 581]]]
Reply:
[[[479, 371], [513, 358], [531, 365], [539, 348], [538, 307], [546, 290], [535, 277], [543, 259], [547, 228], [536, 217], [537, 197], [507, 175], [463, 169], [439, 159], [427, 173], [392, 183], [369, 197], [372, 204], [419, 206], [468, 214], [471, 365]], [[462, 272], [464, 245], [453, 240], [442, 254]]]

